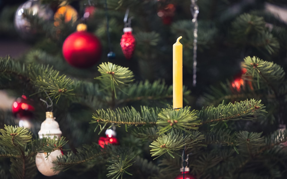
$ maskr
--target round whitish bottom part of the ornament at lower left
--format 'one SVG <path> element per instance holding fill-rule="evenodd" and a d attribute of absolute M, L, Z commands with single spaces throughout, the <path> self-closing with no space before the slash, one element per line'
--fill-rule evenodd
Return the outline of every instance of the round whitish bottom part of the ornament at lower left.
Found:
<path fill-rule="evenodd" d="M 48 158 L 46 158 L 46 152 L 38 152 L 36 155 L 35 162 L 39 172 L 41 172 L 41 174 L 45 176 L 57 175 L 60 171 L 54 171 L 52 169 L 55 166 L 55 164 L 53 164 L 53 161 L 57 159 L 57 156 L 61 155 L 62 152 L 60 150 L 55 150 L 49 154 Z"/>

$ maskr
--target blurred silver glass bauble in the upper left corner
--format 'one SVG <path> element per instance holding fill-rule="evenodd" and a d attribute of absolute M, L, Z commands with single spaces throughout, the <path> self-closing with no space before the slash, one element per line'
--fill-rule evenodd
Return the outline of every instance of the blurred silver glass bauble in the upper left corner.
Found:
<path fill-rule="evenodd" d="M 44 21 L 51 21 L 54 12 L 49 5 L 41 4 L 38 0 L 29 0 L 20 5 L 15 12 L 14 26 L 24 39 L 33 39 L 39 32 L 39 27 L 33 24 L 32 19 L 27 18 L 29 15 L 41 18 Z"/>

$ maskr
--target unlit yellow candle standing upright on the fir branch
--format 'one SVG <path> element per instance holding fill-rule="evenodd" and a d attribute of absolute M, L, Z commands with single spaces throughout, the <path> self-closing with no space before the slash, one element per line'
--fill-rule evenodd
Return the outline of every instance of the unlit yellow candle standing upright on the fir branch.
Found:
<path fill-rule="evenodd" d="M 182 100 L 182 44 L 177 38 L 176 43 L 172 46 L 172 80 L 173 80 L 173 108 L 183 107 Z"/>

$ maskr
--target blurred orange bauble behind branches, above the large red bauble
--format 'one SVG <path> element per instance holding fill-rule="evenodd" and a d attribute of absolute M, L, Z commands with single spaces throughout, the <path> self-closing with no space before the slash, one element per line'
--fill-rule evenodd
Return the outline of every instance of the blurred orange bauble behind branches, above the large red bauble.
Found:
<path fill-rule="evenodd" d="M 58 27 L 62 23 L 75 23 L 78 19 L 78 13 L 71 5 L 59 7 L 54 15 L 54 25 Z"/>

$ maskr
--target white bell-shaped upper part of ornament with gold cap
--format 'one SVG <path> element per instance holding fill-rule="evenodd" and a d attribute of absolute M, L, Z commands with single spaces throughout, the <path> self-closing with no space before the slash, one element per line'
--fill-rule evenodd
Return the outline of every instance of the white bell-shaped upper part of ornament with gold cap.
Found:
<path fill-rule="evenodd" d="M 46 137 L 53 139 L 55 136 L 57 138 L 61 137 L 62 131 L 59 128 L 58 122 L 55 121 L 53 112 L 46 112 L 46 120 L 42 122 L 38 134 L 40 138 Z"/>

